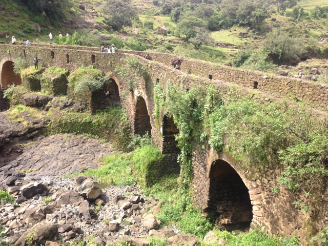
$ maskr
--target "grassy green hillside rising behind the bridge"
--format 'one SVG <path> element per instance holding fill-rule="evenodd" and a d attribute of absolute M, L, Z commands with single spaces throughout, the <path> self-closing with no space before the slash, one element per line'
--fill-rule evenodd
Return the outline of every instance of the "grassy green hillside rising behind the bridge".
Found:
<path fill-rule="evenodd" d="M 49 32 L 55 36 L 58 31 L 72 34 L 75 30 L 87 29 L 88 32 L 98 36 L 99 40 L 104 40 L 95 40 L 95 46 L 101 42 L 109 42 L 112 37 L 116 37 L 125 42 L 125 45 L 118 48 L 139 49 L 141 47 L 150 51 L 168 52 L 226 63 L 247 45 L 261 48 L 265 35 L 275 27 L 294 32 L 304 42 L 308 42 L 311 38 L 317 41 L 320 37 L 328 35 L 328 25 L 326 25 L 328 19 L 314 18 L 311 14 L 317 6 L 328 6 L 328 0 L 301 0 L 298 2 L 298 5 L 303 7 L 305 13 L 308 14 L 298 22 L 291 17 L 292 9 L 287 9 L 282 15 L 274 9 L 269 9 L 268 17 L 257 30 L 234 26 L 213 31 L 211 37 L 214 39 L 215 45 L 202 46 L 200 50 L 195 50 L 192 45 L 188 45 L 173 35 L 176 23 L 171 20 L 170 16 L 153 15 L 158 14 L 161 7 L 154 6 L 152 0 L 131 0 L 131 5 L 139 14 L 140 22 L 135 22 L 133 27 L 126 27 L 122 32 L 114 32 L 107 26 L 106 16 L 99 11 L 103 0 L 69 0 L 69 7 L 63 9 L 65 18 L 61 19 L 58 25 L 38 25 L 40 23 L 39 16 L 32 13 L 26 6 L 17 4 L 16 1 L 18 0 L 6 1 L 1 4 L 5 8 L 3 14 L 0 14 L 0 40 L 2 41 L 5 41 L 5 34 L 8 33 L 10 37 L 15 35 L 18 40 L 29 38 L 32 42 L 49 42 Z M 80 8 L 81 5 L 85 10 Z M 167 27 L 170 31 L 168 36 L 154 34 L 152 30 L 144 27 L 147 22 L 152 22 L 154 28 Z M 317 45 L 322 50 L 326 47 L 324 42 L 317 42 Z"/>

